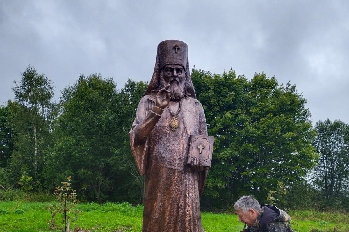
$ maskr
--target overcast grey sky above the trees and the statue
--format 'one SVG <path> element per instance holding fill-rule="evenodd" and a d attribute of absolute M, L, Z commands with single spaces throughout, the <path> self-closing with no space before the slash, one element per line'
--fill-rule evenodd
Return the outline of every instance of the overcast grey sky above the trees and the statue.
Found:
<path fill-rule="evenodd" d="M 159 42 L 182 40 L 197 69 L 291 82 L 313 124 L 349 123 L 348 0 L 0 0 L 0 104 L 28 65 L 55 100 L 80 73 L 149 81 Z"/>

